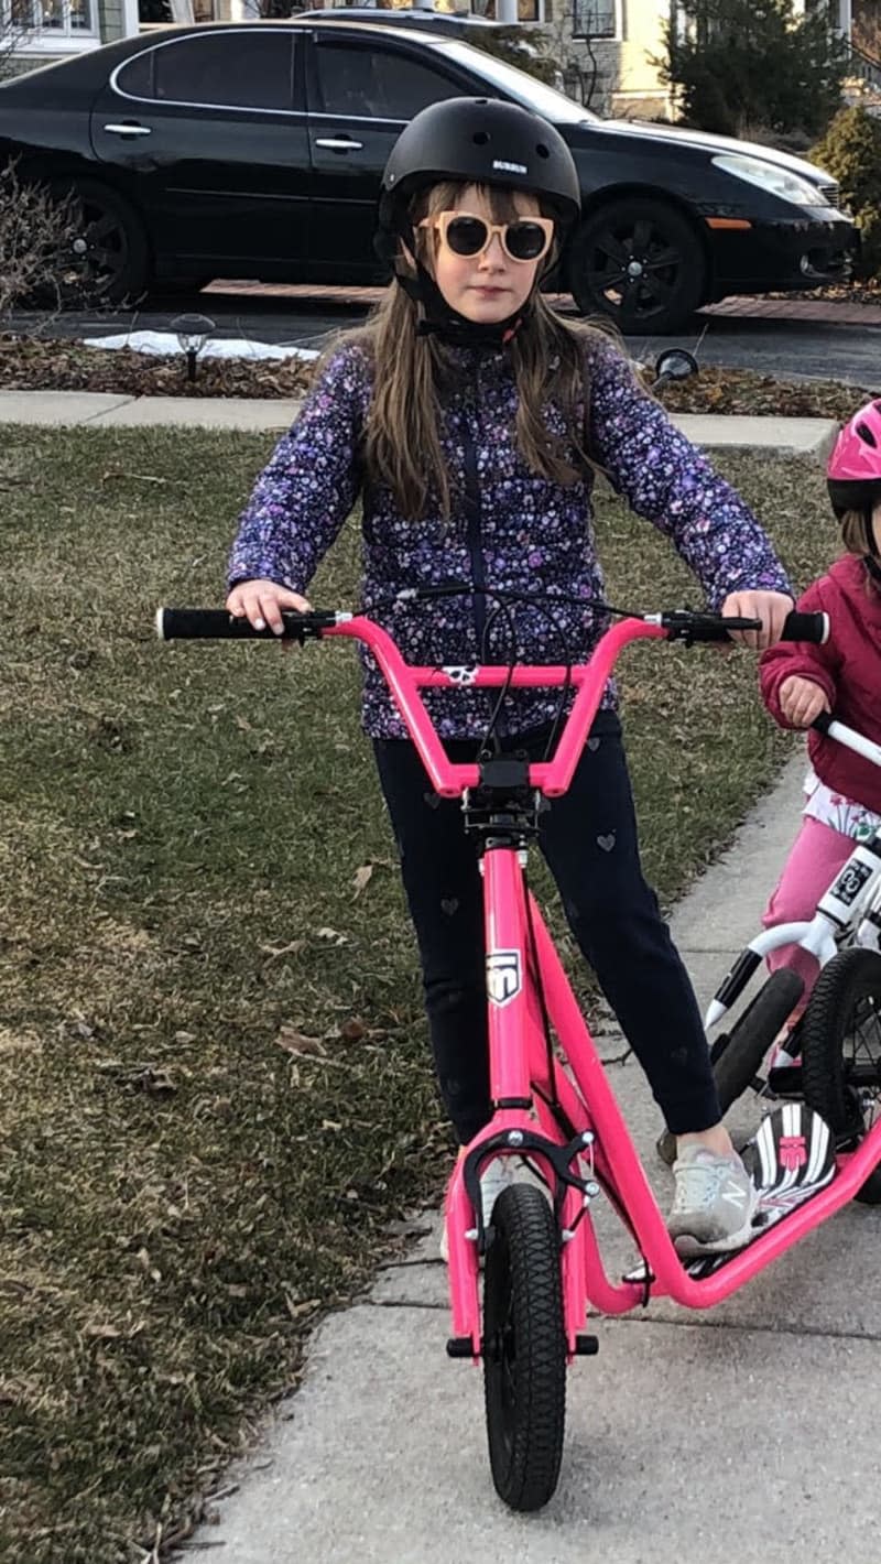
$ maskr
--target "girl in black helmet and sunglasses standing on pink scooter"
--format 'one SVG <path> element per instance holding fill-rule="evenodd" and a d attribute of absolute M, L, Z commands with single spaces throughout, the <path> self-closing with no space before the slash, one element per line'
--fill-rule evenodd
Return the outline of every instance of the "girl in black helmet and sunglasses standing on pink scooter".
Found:
<path fill-rule="evenodd" d="M 325 361 L 241 519 L 227 607 L 282 630 L 358 493 L 363 610 L 412 663 L 507 662 L 507 630 L 480 588 L 554 604 L 516 613 L 518 654 L 557 662 L 562 627 L 582 662 L 602 632 L 592 532 L 602 468 L 696 572 L 714 608 L 762 621 L 771 644 L 792 607 L 759 526 L 668 424 L 609 338 L 563 321 L 538 283 L 579 216 L 562 136 L 513 103 L 449 99 L 418 114 L 383 175 L 379 246 L 394 282 L 374 317 Z M 634 547 L 638 541 L 634 538 Z M 466 580 L 473 596 L 390 607 L 401 588 Z M 577 607 L 577 599 L 585 607 Z M 454 759 L 487 730 L 479 690 L 427 691 Z M 518 691 L 504 748 L 543 754 L 557 691 Z M 423 967 L 440 1089 L 462 1145 L 491 1114 L 480 881 L 458 804 L 426 788 L 376 666 L 363 721 L 391 815 Z M 685 1248 L 746 1242 L 753 1186 L 720 1125 L 689 978 L 642 877 L 615 715 L 602 708 L 540 845 L 574 938 L 679 1137 L 670 1231 Z M 638 982 L 634 973 L 638 971 Z M 490 1167 L 491 1211 L 509 1162 Z"/>

